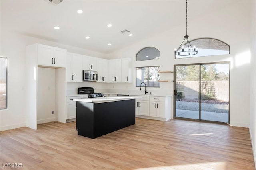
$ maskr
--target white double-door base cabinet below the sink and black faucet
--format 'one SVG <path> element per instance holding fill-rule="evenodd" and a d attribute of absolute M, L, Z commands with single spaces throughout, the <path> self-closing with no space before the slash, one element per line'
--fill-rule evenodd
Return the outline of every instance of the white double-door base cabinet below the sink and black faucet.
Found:
<path fill-rule="evenodd" d="M 135 100 L 135 114 L 149 116 L 149 97 L 140 96 Z"/>

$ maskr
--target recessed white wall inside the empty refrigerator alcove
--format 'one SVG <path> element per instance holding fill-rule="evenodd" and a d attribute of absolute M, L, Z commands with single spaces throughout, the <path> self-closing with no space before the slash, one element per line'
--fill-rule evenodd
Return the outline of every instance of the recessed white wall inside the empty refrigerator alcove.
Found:
<path fill-rule="evenodd" d="M 56 121 L 55 69 L 38 67 L 37 124 Z"/>

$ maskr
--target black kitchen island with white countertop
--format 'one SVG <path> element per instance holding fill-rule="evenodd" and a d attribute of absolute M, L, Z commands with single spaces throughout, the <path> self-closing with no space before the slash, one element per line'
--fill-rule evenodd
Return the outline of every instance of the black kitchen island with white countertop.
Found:
<path fill-rule="evenodd" d="M 100 97 L 76 101 L 78 135 L 96 138 L 135 124 L 136 97 Z"/>

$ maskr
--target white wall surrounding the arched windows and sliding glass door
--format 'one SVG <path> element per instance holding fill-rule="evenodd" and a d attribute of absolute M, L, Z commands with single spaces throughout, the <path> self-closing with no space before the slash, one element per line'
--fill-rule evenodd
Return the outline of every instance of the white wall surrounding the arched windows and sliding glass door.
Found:
<path fill-rule="evenodd" d="M 160 65 L 163 71 L 173 70 L 175 64 L 230 61 L 230 124 L 249 127 L 250 84 L 248 82 L 250 82 L 250 76 L 248 75 L 250 75 L 250 11 L 250 1 L 234 1 L 227 8 L 219 9 L 214 14 L 205 14 L 200 18 L 193 20 L 190 18 L 188 20 L 190 41 L 201 37 L 219 39 L 230 45 L 230 55 L 174 59 L 174 48 L 180 45 L 186 33 L 185 25 L 181 25 L 124 49 L 120 49 L 109 54 L 108 57 L 111 59 L 133 57 L 134 69 L 136 66 Z M 147 63 L 142 61 L 135 62 L 136 53 L 140 49 L 148 46 L 156 47 L 161 52 L 161 59 L 159 61 L 147 61 Z M 156 62 L 160 62 L 160 64 Z M 128 88 L 135 88 L 134 86 L 135 84 L 133 83 Z M 119 88 L 122 88 L 122 86 Z M 173 83 L 161 83 L 161 88 L 156 88 L 155 90 L 167 89 L 172 92 Z"/>

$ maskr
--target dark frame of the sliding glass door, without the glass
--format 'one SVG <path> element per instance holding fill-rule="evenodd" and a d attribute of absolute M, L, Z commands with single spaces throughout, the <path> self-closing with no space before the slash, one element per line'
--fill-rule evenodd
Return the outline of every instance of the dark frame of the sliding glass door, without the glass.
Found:
<path fill-rule="evenodd" d="M 210 121 L 210 120 L 202 120 L 201 119 L 201 65 L 209 65 L 209 64 L 228 64 L 228 122 L 219 122 L 219 121 Z M 173 95 L 173 118 L 174 119 L 182 119 L 182 120 L 190 120 L 190 121 L 206 121 L 206 122 L 213 122 L 213 123 L 229 124 L 230 123 L 230 61 L 174 65 L 173 66 L 173 70 L 174 70 L 173 94 L 174 94 L 174 90 L 176 90 L 176 66 L 191 66 L 191 65 L 199 65 L 199 119 L 176 117 L 176 95 Z"/>

